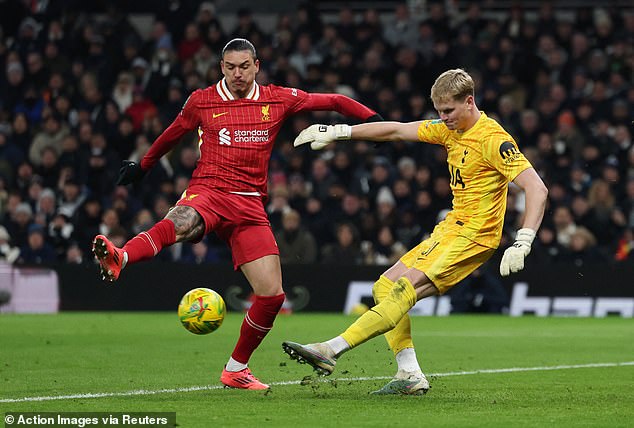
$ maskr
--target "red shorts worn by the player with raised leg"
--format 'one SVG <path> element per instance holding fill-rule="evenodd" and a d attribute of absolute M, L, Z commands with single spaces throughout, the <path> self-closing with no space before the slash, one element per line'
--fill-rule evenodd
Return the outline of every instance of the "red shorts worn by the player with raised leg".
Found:
<path fill-rule="evenodd" d="M 192 207 L 205 222 L 205 235 L 216 234 L 229 245 L 233 267 L 279 254 L 271 223 L 259 196 L 244 196 L 192 184 L 176 203 Z"/>

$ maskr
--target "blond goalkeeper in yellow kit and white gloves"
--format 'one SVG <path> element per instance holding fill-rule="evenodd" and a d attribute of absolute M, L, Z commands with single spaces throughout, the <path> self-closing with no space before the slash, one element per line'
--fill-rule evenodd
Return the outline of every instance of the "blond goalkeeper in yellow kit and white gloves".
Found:
<path fill-rule="evenodd" d="M 429 389 L 416 359 L 408 311 L 420 299 L 445 293 L 493 255 L 502 236 L 509 182 L 525 191 L 526 208 L 515 243 L 502 257 L 500 274 L 524 268 L 524 258 L 544 215 L 546 186 L 515 140 L 478 110 L 471 76 L 462 69 L 444 72 L 431 88 L 431 99 L 440 119 L 312 125 L 295 139 L 295 146 L 310 143 L 314 150 L 350 139 L 424 141 L 447 150 L 453 209 L 428 239 L 376 281 L 372 289 L 376 306 L 331 340 L 282 344 L 291 358 L 329 375 L 341 354 L 385 334 L 398 370 L 390 382 L 374 392 L 377 394 L 424 394 Z"/>

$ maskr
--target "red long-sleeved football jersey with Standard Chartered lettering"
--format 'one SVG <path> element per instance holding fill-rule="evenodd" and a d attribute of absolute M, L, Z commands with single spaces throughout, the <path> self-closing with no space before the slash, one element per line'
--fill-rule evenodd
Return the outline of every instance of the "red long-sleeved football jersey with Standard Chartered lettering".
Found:
<path fill-rule="evenodd" d="M 303 110 L 335 110 L 367 119 L 375 112 L 338 94 L 254 82 L 245 98 L 235 99 L 225 80 L 194 91 L 179 117 L 155 141 L 141 166 L 147 170 L 186 132 L 197 129 L 200 159 L 192 184 L 227 192 L 265 195 L 269 158 L 284 120 Z"/>

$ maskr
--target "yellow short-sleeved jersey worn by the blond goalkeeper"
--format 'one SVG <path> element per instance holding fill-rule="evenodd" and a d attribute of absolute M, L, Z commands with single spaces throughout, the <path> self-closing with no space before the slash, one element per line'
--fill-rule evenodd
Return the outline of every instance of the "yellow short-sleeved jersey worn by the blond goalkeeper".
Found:
<path fill-rule="evenodd" d="M 463 133 L 449 130 L 440 119 L 424 120 L 418 139 L 447 149 L 453 209 L 445 221 L 459 225 L 460 235 L 497 248 L 508 183 L 532 167 L 513 137 L 481 112 L 476 124 Z"/>

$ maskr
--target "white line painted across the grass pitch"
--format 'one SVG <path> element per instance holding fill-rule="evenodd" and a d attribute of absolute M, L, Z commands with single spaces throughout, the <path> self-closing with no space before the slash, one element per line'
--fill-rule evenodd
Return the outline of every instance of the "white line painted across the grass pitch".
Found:
<path fill-rule="evenodd" d="M 461 372 L 447 372 L 447 373 L 428 373 L 428 377 L 447 377 L 447 376 L 465 376 L 474 374 L 496 374 L 496 373 L 518 373 L 518 372 L 533 372 L 533 371 L 551 371 L 551 370 L 570 370 L 570 369 L 592 369 L 592 368 L 608 368 L 608 367 L 623 367 L 634 366 L 634 361 L 625 361 L 622 363 L 591 363 L 591 364 L 567 364 L 559 366 L 543 366 L 543 367 L 510 367 L 506 369 L 480 369 L 469 370 Z M 351 377 L 351 378 L 333 378 L 340 382 L 346 381 L 367 381 L 367 380 L 382 380 L 391 379 L 391 376 L 374 376 L 374 377 Z M 271 382 L 272 386 L 285 386 L 285 385 L 299 385 L 300 381 L 285 381 L 285 382 Z M 77 398 L 104 398 L 104 397 L 131 397 L 134 395 L 156 395 L 156 394 L 173 394 L 176 392 L 195 392 L 195 391 L 211 391 L 216 389 L 222 389 L 221 385 L 203 385 L 203 386 L 190 386 L 187 388 L 167 388 L 167 389 L 137 389 L 132 391 L 123 392 L 94 392 L 86 394 L 71 394 L 71 395 L 53 395 L 48 397 L 24 397 L 24 398 L 0 398 L 0 403 L 25 403 L 29 401 L 54 401 L 54 400 L 73 400 Z"/>

